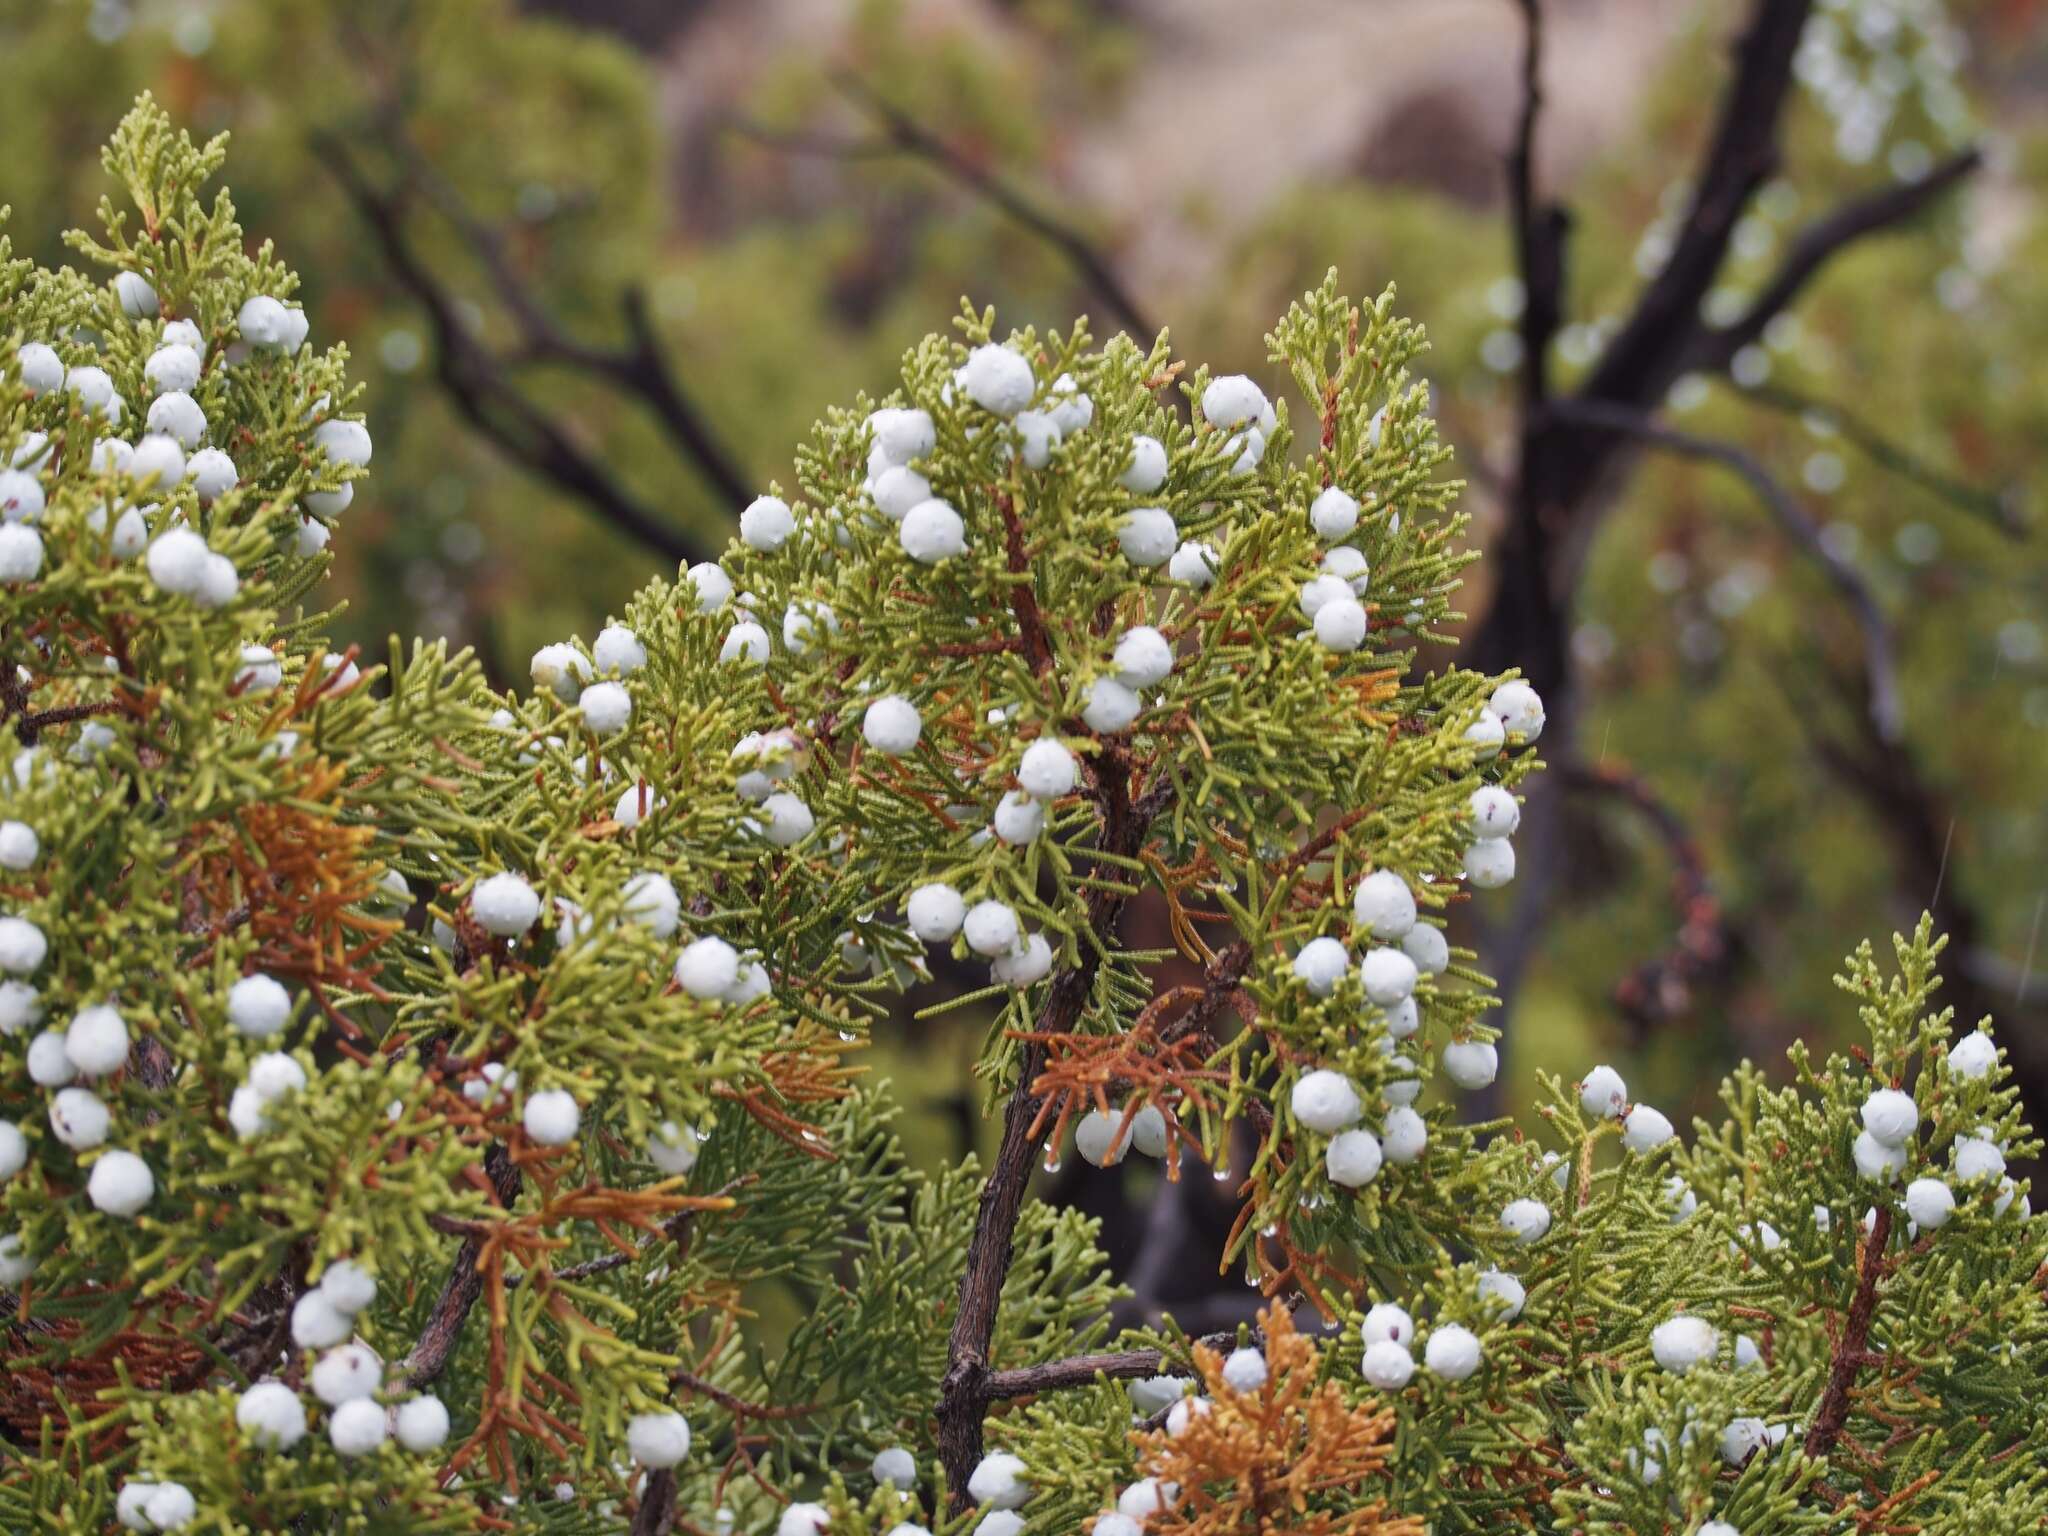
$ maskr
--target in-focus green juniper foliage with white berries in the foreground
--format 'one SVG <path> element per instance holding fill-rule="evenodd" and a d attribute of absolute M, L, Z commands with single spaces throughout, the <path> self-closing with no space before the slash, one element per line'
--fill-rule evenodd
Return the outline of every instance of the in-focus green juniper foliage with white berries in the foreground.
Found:
<path fill-rule="evenodd" d="M 2048 1524 L 2038 1143 L 1925 926 L 1690 1143 L 1608 1067 L 1460 1122 L 1542 702 L 1415 668 L 1391 297 L 1274 328 L 1300 424 L 965 311 L 500 696 L 305 608 L 371 440 L 219 160 L 143 102 L 106 279 L 0 248 L 8 1530 Z M 987 1174 L 858 1067 L 926 979 Z M 1108 1348 L 1069 1145 L 1237 1178 L 1262 1327 Z"/>

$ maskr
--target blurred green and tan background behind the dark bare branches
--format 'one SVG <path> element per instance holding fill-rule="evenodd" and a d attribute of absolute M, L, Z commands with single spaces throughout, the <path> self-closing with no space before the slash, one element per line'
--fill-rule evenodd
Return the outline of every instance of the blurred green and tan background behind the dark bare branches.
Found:
<path fill-rule="evenodd" d="M 1671 240 L 1745 10 L 1548 6 L 1538 166 L 1575 209 L 1567 381 Z M 2048 563 L 2030 516 L 2048 426 L 2044 27 L 2038 0 L 1821 6 L 1784 164 L 1710 311 L 1733 313 L 1837 199 L 1966 141 L 1987 164 L 1833 262 L 1739 360 L 1747 387 L 1681 381 L 1669 401 L 1673 424 L 1769 467 L 1896 623 L 1909 750 L 1952 821 L 1937 879 L 1978 918 L 1970 965 L 2021 1030 L 2040 1030 L 2048 893 Z M 1264 326 L 1335 264 L 1352 293 L 1399 285 L 1430 328 L 1487 543 L 1511 469 L 1520 35 L 1509 0 L 0 0 L 0 203 L 25 252 L 61 260 L 137 90 L 231 131 L 246 227 L 276 240 L 315 342 L 346 340 L 369 385 L 377 467 L 336 539 L 344 633 L 453 635 L 524 682 L 532 649 L 594 635 L 737 514 L 645 399 L 563 362 L 629 346 L 633 293 L 729 479 L 766 487 L 813 416 L 887 391 L 963 293 L 1016 324 L 1120 328 L 1061 238 L 1171 322 L 1182 354 L 1253 371 Z M 666 555 L 477 432 L 348 168 L 412 186 L 395 217 L 465 346 L 520 346 L 500 276 L 569 338 L 516 360 L 518 399 L 659 522 Z M 1972 494 L 1929 489 L 1804 399 Z M 1835 1030 L 1837 956 L 1933 893 L 1815 756 L 1817 666 L 1853 631 L 1812 561 L 1712 467 L 1645 459 L 1618 498 L 1575 596 L 1577 739 L 1544 750 L 1653 786 L 1737 942 L 1655 1022 L 1630 1020 L 1614 987 L 1671 942 L 1671 848 L 1628 807 L 1573 809 L 1507 1018 L 1509 1098 L 1538 1069 L 1612 1059 L 1686 1112 L 1735 1057 L 1778 1063 L 1794 1034 Z M 1481 565 L 1475 614 L 1489 582 Z M 930 1151 L 967 1122 L 973 1049 L 938 1040 L 889 1053 Z"/>

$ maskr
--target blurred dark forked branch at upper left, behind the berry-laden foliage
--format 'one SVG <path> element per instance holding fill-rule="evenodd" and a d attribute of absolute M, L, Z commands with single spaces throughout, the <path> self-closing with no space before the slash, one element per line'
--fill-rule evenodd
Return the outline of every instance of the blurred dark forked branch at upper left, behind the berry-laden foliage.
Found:
<path fill-rule="evenodd" d="M 483 240 L 477 250 L 479 262 L 494 272 L 506 309 L 524 332 L 522 352 L 500 356 L 475 336 L 408 233 L 408 205 L 422 186 L 418 172 L 408 174 L 391 190 L 379 190 L 338 135 L 324 135 L 319 145 L 328 168 L 369 225 L 393 279 L 426 311 L 434 332 L 436 373 L 463 418 L 514 463 L 569 492 L 621 532 L 668 559 L 705 559 L 707 551 L 694 539 L 629 492 L 512 377 L 516 362 L 541 358 L 592 373 L 647 401 L 717 494 L 725 502 L 745 500 L 745 479 L 670 377 L 639 295 L 629 295 L 625 301 L 627 330 L 633 338 L 627 348 L 602 350 L 575 342 L 545 317 L 492 240 L 469 225 L 471 244 Z"/>

